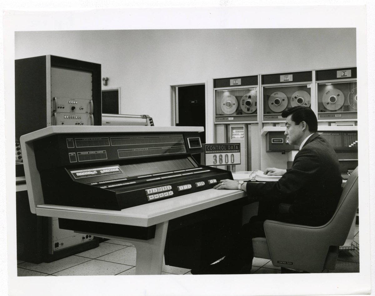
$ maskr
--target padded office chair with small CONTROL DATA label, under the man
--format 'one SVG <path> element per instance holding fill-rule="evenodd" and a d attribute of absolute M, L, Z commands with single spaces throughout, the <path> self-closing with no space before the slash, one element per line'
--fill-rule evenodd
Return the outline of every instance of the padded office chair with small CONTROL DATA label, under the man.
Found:
<path fill-rule="evenodd" d="M 358 167 L 348 178 L 335 213 L 325 225 L 312 227 L 272 220 L 264 222 L 266 237 L 252 239 L 254 257 L 274 266 L 305 272 L 335 269 L 358 208 Z"/>

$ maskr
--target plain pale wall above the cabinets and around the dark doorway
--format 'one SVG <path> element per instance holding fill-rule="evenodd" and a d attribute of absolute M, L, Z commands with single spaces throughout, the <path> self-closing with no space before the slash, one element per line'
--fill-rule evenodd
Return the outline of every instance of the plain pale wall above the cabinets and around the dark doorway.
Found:
<path fill-rule="evenodd" d="M 213 78 L 356 65 L 355 28 L 31 31 L 15 33 L 15 58 L 38 55 L 102 65 L 105 88 L 121 88 L 121 113 L 170 125 L 170 85 L 207 84 L 213 139 Z"/>

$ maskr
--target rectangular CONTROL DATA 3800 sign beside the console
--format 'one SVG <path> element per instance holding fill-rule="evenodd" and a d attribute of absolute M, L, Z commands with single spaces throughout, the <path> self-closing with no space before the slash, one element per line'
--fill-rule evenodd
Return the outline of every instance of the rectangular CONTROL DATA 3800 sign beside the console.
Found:
<path fill-rule="evenodd" d="M 205 144 L 205 165 L 241 164 L 240 143 Z"/>

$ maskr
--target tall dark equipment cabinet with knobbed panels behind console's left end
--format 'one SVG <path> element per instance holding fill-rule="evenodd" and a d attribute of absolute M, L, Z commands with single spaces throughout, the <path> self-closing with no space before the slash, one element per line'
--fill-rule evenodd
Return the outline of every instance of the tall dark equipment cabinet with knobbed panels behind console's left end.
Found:
<path fill-rule="evenodd" d="M 21 135 L 47 126 L 101 123 L 100 64 L 53 55 L 15 60 L 16 145 Z M 18 158 L 16 168 L 23 168 Z M 92 236 L 60 229 L 55 218 L 28 217 L 35 215 L 24 211 L 27 204 L 26 192 L 17 192 L 19 259 L 50 262 L 98 246 Z"/>

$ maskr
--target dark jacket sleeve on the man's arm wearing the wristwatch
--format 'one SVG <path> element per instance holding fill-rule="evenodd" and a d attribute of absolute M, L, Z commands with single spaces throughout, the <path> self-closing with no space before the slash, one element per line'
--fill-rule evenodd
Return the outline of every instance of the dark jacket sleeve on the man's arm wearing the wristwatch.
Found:
<path fill-rule="evenodd" d="M 279 200 L 288 201 L 306 184 L 314 182 L 321 167 L 320 158 L 314 148 L 305 147 L 297 153 L 291 169 L 275 182 L 248 182 L 246 191 L 251 201 Z"/>

